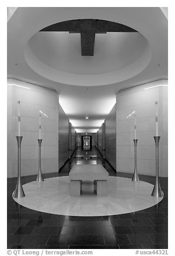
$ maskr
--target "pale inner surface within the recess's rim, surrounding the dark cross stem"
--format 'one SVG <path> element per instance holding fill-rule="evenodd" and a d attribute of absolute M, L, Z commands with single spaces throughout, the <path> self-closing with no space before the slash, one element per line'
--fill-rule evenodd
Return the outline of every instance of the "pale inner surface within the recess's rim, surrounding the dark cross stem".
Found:
<path fill-rule="evenodd" d="M 80 34 L 38 32 L 28 44 L 33 54 L 51 68 L 76 75 L 97 75 L 135 62 L 148 41 L 140 33 L 96 34 L 94 56 L 82 56 Z"/>

